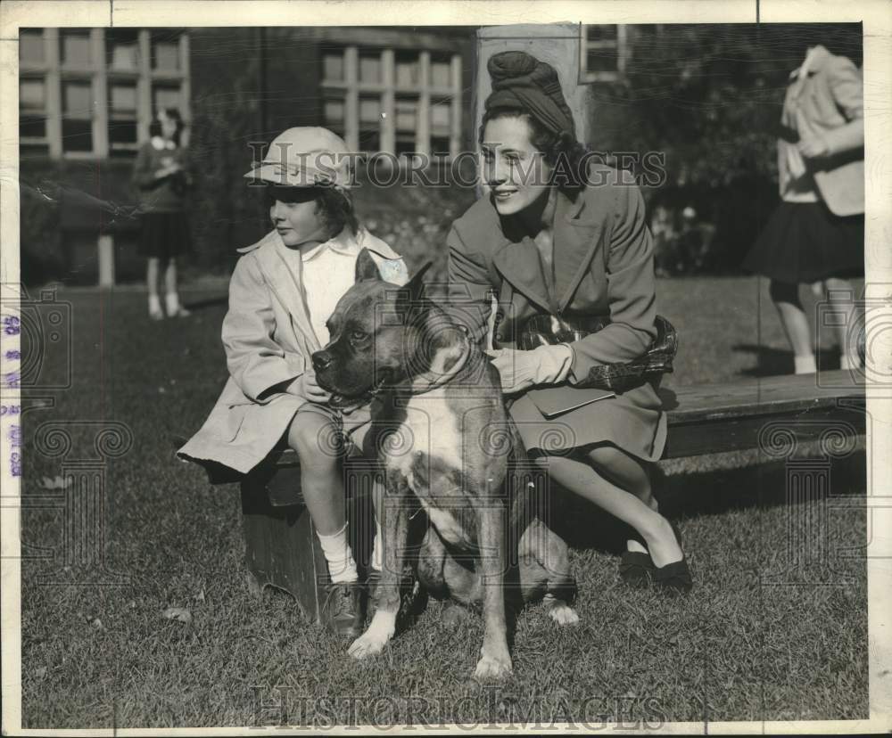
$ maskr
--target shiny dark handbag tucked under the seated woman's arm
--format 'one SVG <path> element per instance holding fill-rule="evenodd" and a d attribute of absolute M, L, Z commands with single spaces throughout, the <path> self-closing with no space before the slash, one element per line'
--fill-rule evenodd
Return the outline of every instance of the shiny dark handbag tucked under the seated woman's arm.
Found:
<path fill-rule="evenodd" d="M 602 316 L 533 316 L 521 329 L 517 348 L 530 351 L 539 346 L 572 343 L 598 332 L 609 323 L 609 318 Z M 575 382 L 574 387 L 624 392 L 646 381 L 658 382 L 662 374 L 672 373 L 673 359 L 678 351 L 678 333 L 663 316 L 657 316 L 654 325 L 657 338 L 643 355 L 628 362 L 592 366 L 589 375 Z"/>

